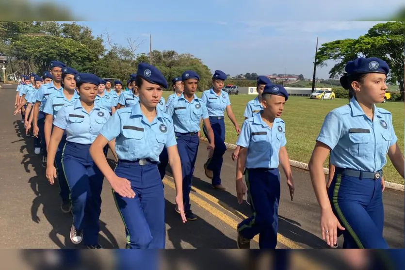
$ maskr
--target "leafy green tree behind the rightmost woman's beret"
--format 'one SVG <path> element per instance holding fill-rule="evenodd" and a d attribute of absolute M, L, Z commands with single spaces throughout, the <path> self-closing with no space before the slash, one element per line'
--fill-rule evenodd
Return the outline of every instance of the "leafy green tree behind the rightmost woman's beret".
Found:
<path fill-rule="evenodd" d="M 330 79 L 338 79 L 348 61 L 357 57 L 378 57 L 390 67 L 388 82 L 398 83 L 404 100 L 404 33 L 405 22 L 387 22 L 374 25 L 358 39 L 343 39 L 322 44 L 317 53 L 317 65 L 327 60 L 338 62 L 329 71 Z"/>

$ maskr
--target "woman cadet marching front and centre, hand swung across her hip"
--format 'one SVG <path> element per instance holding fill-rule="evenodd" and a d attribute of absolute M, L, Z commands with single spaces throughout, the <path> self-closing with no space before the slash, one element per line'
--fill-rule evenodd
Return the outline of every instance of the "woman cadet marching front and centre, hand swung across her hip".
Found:
<path fill-rule="evenodd" d="M 173 122 L 156 107 L 167 82 L 154 66 L 138 65 L 136 88 L 139 102 L 117 110 L 104 125 L 90 154 L 113 188 L 113 196 L 127 235 L 127 248 L 165 247 L 164 192 L 157 163 L 167 148 L 176 185 L 176 203 L 186 222 L 181 189 L 181 163 Z M 116 138 L 118 164 L 113 171 L 102 155 Z"/>

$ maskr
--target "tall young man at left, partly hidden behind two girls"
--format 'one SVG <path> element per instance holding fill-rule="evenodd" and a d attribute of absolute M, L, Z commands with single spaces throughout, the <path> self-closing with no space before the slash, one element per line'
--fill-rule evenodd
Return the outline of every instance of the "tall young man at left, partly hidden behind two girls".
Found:
<path fill-rule="evenodd" d="M 36 101 L 33 109 L 33 133 L 35 137 L 39 137 L 41 140 L 41 150 L 42 150 L 42 166 L 47 166 L 47 145 L 45 142 L 45 113 L 44 107 L 48 100 L 50 94 L 62 90 L 62 69 L 66 65 L 60 61 L 52 61 L 49 64 L 50 74 L 52 75 L 52 81 L 48 84 L 44 84 L 36 92 Z M 39 133 L 39 136 L 38 136 Z"/>

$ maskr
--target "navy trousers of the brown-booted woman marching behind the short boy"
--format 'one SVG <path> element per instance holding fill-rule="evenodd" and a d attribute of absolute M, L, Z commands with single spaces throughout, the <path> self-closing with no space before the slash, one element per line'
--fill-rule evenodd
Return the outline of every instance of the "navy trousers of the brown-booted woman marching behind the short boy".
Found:
<path fill-rule="evenodd" d="M 214 132 L 215 148 L 207 168 L 212 171 L 213 178 L 211 180 L 211 183 L 213 186 L 216 186 L 221 184 L 221 168 L 222 162 L 224 162 L 224 159 L 222 157 L 224 156 L 225 152 L 227 152 L 227 146 L 224 143 L 225 121 L 224 118 L 218 119 L 217 117 L 210 117 L 210 124 Z M 204 125 L 203 131 L 205 137 L 208 139 L 207 128 Z"/>

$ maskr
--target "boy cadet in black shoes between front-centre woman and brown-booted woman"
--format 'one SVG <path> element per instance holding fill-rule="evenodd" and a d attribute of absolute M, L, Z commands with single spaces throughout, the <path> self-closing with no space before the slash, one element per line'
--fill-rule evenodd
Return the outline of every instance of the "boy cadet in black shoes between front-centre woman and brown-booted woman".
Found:
<path fill-rule="evenodd" d="M 196 220 L 197 217 L 191 210 L 190 191 L 193 180 L 194 164 L 197 159 L 200 139 L 201 118 L 207 128 L 210 144 L 207 149 L 209 156 L 214 151 L 214 133 L 211 128 L 208 110 L 204 102 L 195 95 L 200 77 L 192 70 L 184 71 L 181 76 L 184 82 L 184 92 L 174 97 L 167 107 L 166 113 L 173 118 L 173 126 L 177 139 L 178 154 L 181 160 L 181 172 L 183 175 L 183 205 L 186 218 Z M 176 206 L 176 211 L 180 213 Z"/>

